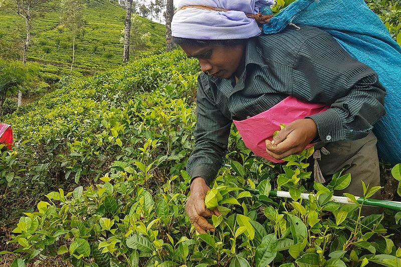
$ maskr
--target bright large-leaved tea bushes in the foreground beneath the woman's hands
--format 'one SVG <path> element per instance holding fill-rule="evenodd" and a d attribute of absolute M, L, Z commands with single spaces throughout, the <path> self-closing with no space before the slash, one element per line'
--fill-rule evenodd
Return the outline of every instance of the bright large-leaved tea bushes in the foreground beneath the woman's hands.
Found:
<path fill-rule="evenodd" d="M 287 181 L 301 185 L 307 178 L 301 167 L 307 155 L 287 163 Z M 382 215 L 363 218 L 361 205 L 329 201 L 333 190 L 349 184 L 349 175 L 333 177 L 327 187 L 314 183 L 316 194 L 306 201 L 271 199 L 267 164 L 253 156 L 243 160 L 222 168 L 211 190 L 222 196 L 222 215 L 211 221 L 213 234 L 189 228 L 184 203 L 190 177 L 184 171 L 163 186 L 142 187 L 148 168 L 125 161 L 115 162 L 101 183 L 85 190 L 46 195 L 36 212 L 20 218 L 12 242 L 21 248 L 14 253 L 27 259 L 38 253 L 64 255 L 74 266 L 401 264 L 401 249 L 387 235 Z M 257 195 L 247 191 L 255 188 Z M 366 189 L 364 195 L 376 190 Z"/>

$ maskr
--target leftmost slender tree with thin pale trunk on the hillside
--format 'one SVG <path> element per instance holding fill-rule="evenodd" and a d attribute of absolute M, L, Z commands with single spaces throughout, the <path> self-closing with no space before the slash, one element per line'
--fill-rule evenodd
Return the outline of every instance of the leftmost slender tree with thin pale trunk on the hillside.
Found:
<path fill-rule="evenodd" d="M 39 12 L 43 11 L 43 6 L 47 2 L 49 2 L 49 0 L 12 0 L 12 10 L 25 20 L 25 30 L 27 33 L 27 37 L 25 39 L 24 55 L 22 58 L 22 62 L 24 65 L 27 63 L 28 49 L 31 42 L 32 21 Z M 21 106 L 21 104 L 22 92 L 19 91 L 17 106 Z"/>

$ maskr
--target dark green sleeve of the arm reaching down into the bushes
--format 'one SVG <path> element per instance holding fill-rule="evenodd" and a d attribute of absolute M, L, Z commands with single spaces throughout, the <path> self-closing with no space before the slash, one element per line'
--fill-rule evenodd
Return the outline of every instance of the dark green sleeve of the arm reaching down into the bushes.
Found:
<path fill-rule="evenodd" d="M 195 148 L 189 156 L 186 169 L 192 179 L 202 177 L 210 185 L 223 166 L 232 120 L 216 106 L 204 75 L 198 77 Z"/>

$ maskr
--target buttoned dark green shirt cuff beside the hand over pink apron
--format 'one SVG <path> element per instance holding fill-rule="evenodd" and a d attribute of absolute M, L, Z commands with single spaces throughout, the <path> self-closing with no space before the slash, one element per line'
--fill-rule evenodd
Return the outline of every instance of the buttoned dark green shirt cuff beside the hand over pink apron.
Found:
<path fill-rule="evenodd" d="M 315 121 L 319 138 L 324 143 L 344 140 L 341 118 L 333 108 L 308 116 L 307 118 Z"/>

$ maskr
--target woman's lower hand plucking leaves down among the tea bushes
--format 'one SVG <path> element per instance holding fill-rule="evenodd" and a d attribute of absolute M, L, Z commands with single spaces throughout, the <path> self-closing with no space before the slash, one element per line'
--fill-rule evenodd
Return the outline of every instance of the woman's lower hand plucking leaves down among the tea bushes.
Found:
<path fill-rule="evenodd" d="M 209 189 L 209 186 L 202 177 L 196 177 L 191 183 L 191 193 L 186 200 L 185 212 L 196 231 L 199 233 L 215 231 L 215 227 L 213 227 L 213 225 L 210 224 L 206 218 L 210 218 L 212 215 L 221 215 L 217 208 L 212 211 L 207 209 L 205 206 L 205 197 Z"/>

